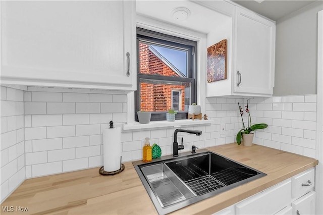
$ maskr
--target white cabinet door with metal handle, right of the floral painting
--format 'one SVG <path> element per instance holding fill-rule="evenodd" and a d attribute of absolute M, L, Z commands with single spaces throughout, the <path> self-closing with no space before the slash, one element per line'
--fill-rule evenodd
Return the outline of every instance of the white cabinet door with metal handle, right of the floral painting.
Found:
<path fill-rule="evenodd" d="M 273 94 L 275 23 L 236 8 L 234 92 Z"/>

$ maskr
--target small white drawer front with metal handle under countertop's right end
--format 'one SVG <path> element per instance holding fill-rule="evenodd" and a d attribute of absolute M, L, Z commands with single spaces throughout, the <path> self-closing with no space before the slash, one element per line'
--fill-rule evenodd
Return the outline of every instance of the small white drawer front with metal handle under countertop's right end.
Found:
<path fill-rule="evenodd" d="M 312 168 L 292 177 L 292 198 L 295 199 L 301 197 L 311 191 L 313 187 L 314 169 Z"/>

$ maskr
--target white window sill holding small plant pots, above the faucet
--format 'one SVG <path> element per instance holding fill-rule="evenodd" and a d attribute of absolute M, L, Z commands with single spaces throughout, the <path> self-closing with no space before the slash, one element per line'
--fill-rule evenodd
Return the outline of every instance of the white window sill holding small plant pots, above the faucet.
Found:
<path fill-rule="evenodd" d="M 147 124 L 140 124 L 138 122 L 132 124 L 124 124 L 122 129 L 128 130 L 140 130 L 140 129 L 155 129 L 155 128 L 177 128 L 181 126 L 197 126 L 197 125 L 211 125 L 213 120 L 175 120 L 175 122 L 168 121 L 152 121 Z"/>

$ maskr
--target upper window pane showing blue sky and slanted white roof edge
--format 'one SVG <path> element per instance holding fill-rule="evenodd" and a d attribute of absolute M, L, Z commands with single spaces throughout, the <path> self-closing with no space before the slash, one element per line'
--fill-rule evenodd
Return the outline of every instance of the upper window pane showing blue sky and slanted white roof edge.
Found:
<path fill-rule="evenodd" d="M 140 73 L 187 77 L 187 50 L 139 41 Z"/>

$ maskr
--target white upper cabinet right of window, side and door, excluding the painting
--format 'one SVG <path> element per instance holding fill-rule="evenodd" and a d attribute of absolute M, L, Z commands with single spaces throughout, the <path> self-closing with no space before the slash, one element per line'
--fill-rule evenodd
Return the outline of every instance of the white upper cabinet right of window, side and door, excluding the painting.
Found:
<path fill-rule="evenodd" d="M 275 22 L 235 7 L 227 23 L 207 35 L 207 47 L 227 39 L 227 79 L 206 83 L 206 96 L 272 96 Z"/>

